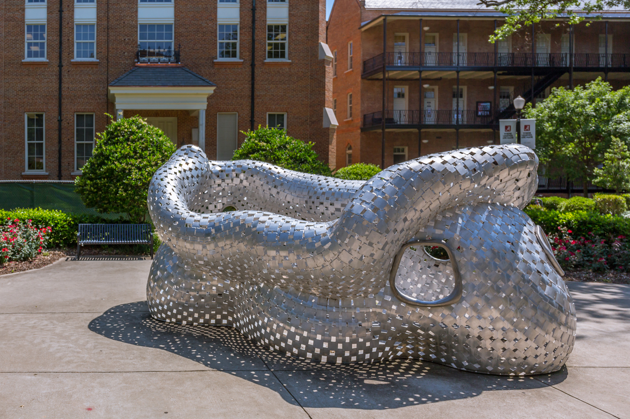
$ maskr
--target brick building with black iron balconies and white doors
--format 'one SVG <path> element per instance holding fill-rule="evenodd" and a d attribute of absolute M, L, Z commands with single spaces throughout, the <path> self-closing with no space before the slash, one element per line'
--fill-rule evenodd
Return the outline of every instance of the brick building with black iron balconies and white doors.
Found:
<path fill-rule="evenodd" d="M 515 96 L 536 103 L 551 87 L 599 76 L 615 88 L 628 83 L 626 11 L 589 26 L 544 21 L 492 44 L 505 15 L 477 3 L 335 0 L 327 40 L 337 167 L 387 167 L 497 143 L 498 120 L 512 118 Z"/>

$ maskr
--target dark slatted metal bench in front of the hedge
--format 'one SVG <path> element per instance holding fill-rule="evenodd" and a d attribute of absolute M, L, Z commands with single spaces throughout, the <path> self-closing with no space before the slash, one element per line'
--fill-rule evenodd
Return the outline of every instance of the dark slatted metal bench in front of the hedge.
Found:
<path fill-rule="evenodd" d="M 77 260 L 86 244 L 148 244 L 153 259 L 153 231 L 149 224 L 79 224 Z"/>

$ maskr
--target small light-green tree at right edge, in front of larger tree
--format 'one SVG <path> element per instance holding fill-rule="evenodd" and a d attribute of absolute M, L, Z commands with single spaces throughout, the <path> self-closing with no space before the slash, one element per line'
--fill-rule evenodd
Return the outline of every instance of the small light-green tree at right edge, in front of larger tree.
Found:
<path fill-rule="evenodd" d="M 593 184 L 617 193 L 630 190 L 630 152 L 626 143 L 612 137 L 610 149 L 604 153 L 604 167 L 593 170 L 597 178 Z"/>

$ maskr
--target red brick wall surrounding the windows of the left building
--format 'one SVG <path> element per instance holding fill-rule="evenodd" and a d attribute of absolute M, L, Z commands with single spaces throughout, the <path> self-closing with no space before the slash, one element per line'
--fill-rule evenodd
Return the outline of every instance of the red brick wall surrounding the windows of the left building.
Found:
<path fill-rule="evenodd" d="M 208 98 L 206 152 L 216 157 L 218 112 L 238 112 L 240 131 L 250 126 L 251 0 L 240 5 L 240 58 L 243 64 L 217 67 L 216 3 L 175 0 L 175 45 L 181 44 L 182 64 L 217 84 Z M 97 3 L 95 64 L 76 64 L 74 58 L 74 2 L 64 1 L 62 67 L 62 177 L 74 170 L 74 113 L 94 112 L 96 131 L 115 115 L 107 86 L 134 68 L 137 48 L 137 0 L 103 0 Z M 109 8 L 109 13 L 108 13 Z M 325 42 L 325 0 L 292 0 L 289 4 L 288 65 L 265 65 L 266 3 L 256 8 L 255 127 L 266 125 L 266 113 L 287 112 L 289 135 L 315 143 L 320 159 L 328 162 L 334 129 L 323 128 L 323 108 L 332 107 L 331 67 L 319 60 L 318 42 Z M 59 60 L 59 0 L 48 0 L 47 59 L 45 64 L 23 64 L 24 0 L 4 1 L 0 17 L 3 34 L 0 64 L 0 179 L 21 179 L 25 170 L 24 113 L 45 113 L 45 169 L 57 179 L 57 77 Z M 109 16 L 109 25 L 107 25 Z M 109 33 L 109 35 L 108 35 Z M 107 45 L 109 48 L 107 48 Z M 125 111 L 125 116 L 177 116 L 178 142 L 189 143 L 197 117 L 187 111 Z M 334 159 L 333 159 L 334 160 Z"/>

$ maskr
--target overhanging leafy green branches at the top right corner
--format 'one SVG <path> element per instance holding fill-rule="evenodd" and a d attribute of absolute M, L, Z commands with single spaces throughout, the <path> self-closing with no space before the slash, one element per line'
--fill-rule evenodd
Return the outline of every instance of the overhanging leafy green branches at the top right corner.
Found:
<path fill-rule="evenodd" d="M 585 18 L 600 19 L 600 12 L 605 9 L 630 9 L 628 0 L 479 0 L 478 4 L 507 14 L 505 23 L 490 36 L 491 42 L 541 20 L 560 16 L 566 23 L 576 25 Z"/>

